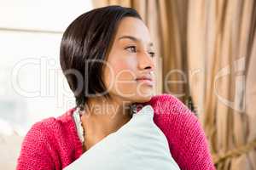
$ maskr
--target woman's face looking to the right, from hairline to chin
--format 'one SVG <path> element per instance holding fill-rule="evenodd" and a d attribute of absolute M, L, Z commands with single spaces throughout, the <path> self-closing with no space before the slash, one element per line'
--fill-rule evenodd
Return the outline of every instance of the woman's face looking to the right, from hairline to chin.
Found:
<path fill-rule="evenodd" d="M 105 66 L 103 79 L 110 95 L 132 103 L 151 99 L 155 57 L 142 20 L 125 17 L 120 21 Z"/>

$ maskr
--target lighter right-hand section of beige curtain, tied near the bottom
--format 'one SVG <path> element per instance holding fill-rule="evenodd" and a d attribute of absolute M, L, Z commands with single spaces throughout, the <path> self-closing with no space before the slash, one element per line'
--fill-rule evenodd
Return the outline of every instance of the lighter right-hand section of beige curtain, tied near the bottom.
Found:
<path fill-rule="evenodd" d="M 218 169 L 256 169 L 255 5 L 189 3 L 190 89 Z"/>

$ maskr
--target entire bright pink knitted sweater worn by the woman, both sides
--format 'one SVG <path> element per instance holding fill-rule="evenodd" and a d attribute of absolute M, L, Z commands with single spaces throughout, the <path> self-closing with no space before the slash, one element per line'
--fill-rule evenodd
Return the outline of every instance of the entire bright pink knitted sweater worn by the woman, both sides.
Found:
<path fill-rule="evenodd" d="M 172 157 L 182 170 L 215 169 L 201 124 L 181 101 L 162 94 L 143 105 L 148 104 L 154 108 L 154 122 L 166 135 Z M 74 110 L 32 126 L 22 143 L 17 170 L 59 170 L 83 154 Z"/>

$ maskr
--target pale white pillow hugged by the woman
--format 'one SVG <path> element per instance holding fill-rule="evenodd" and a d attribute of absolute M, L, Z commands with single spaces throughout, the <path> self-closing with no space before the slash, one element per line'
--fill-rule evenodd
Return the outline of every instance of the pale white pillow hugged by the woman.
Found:
<path fill-rule="evenodd" d="M 166 136 L 146 105 L 115 133 L 85 151 L 65 170 L 177 170 Z"/>

